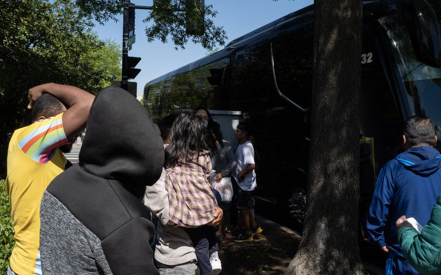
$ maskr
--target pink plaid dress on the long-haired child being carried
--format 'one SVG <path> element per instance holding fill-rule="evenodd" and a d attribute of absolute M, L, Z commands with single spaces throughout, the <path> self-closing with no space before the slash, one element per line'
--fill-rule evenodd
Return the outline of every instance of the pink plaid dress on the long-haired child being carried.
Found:
<path fill-rule="evenodd" d="M 169 193 L 169 219 L 176 225 L 194 228 L 214 219 L 216 198 L 208 177 L 211 159 L 208 151 L 195 154 L 193 161 L 182 166 L 169 167 L 165 189 Z"/>

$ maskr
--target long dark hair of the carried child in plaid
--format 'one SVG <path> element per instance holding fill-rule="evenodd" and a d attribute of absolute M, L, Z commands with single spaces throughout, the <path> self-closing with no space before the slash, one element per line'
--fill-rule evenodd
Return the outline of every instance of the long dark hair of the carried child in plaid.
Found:
<path fill-rule="evenodd" d="M 165 149 L 165 165 L 172 167 L 188 163 L 195 154 L 209 148 L 207 121 L 195 114 L 182 112 L 170 130 L 170 144 Z"/>

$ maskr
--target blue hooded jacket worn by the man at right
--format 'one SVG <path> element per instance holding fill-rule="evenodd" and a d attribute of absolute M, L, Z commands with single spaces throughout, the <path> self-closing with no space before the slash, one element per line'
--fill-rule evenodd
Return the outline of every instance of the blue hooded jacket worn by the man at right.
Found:
<path fill-rule="evenodd" d="M 422 226 L 427 223 L 441 193 L 440 168 L 440 153 L 429 146 L 410 148 L 384 165 L 367 217 L 372 243 L 379 247 L 386 245 L 403 258 L 395 221 L 406 215 L 414 217 Z"/>

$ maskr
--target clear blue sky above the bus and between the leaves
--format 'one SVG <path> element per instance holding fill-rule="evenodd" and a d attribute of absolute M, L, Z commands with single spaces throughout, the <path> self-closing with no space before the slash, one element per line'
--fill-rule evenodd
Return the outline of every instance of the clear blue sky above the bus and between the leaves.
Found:
<path fill-rule="evenodd" d="M 152 0 L 132 0 L 137 5 L 151 5 Z M 277 18 L 297 11 L 300 8 L 311 5 L 313 0 L 205 0 L 206 5 L 213 5 L 218 15 L 213 19 L 217 26 L 223 26 L 231 40 L 253 31 Z M 166 74 L 174 69 L 184 66 L 192 61 L 205 56 L 207 52 L 200 45 L 187 44 L 185 50 L 174 50 L 173 43 L 163 44 L 160 41 L 147 42 L 144 29 L 146 25 L 142 22 L 148 15 L 147 10 L 136 10 L 135 33 L 136 43 L 129 56 L 141 57 L 137 68 L 141 73 L 132 81 L 138 83 L 138 94 L 142 94 L 145 83 Z M 122 16 L 119 22 L 107 22 L 104 26 L 96 25 L 94 31 L 100 39 L 111 39 L 122 44 L 123 25 Z M 222 46 L 219 46 L 222 48 Z"/>

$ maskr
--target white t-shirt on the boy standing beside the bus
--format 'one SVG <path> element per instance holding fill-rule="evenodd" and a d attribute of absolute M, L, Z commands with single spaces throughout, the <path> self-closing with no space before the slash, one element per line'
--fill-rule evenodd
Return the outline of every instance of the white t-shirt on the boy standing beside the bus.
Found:
<path fill-rule="evenodd" d="M 240 144 L 236 149 L 236 169 L 234 170 L 233 176 L 236 183 L 245 191 L 252 191 L 256 188 L 256 173 L 254 169 L 245 175 L 244 180 L 239 183 L 237 179 L 237 174 L 245 169 L 249 164 L 255 164 L 254 162 L 254 148 L 252 147 L 251 141 L 246 141 L 244 144 Z"/>

